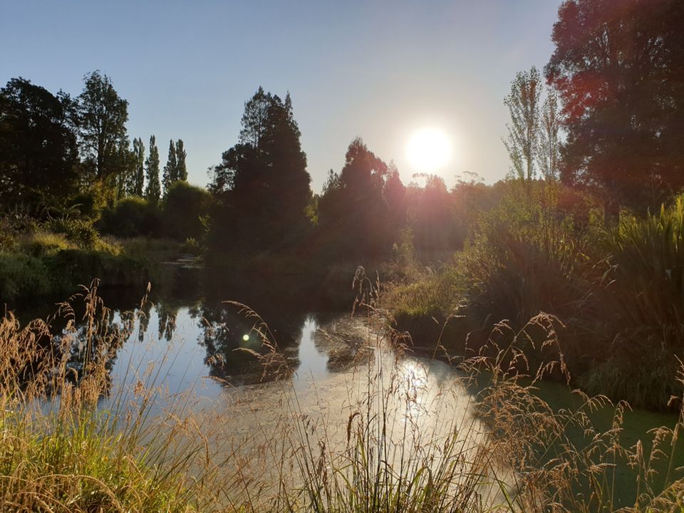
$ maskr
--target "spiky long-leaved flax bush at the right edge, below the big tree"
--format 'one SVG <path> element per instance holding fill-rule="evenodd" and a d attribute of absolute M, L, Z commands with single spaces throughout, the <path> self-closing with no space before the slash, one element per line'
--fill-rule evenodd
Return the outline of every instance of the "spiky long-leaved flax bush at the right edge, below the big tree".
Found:
<path fill-rule="evenodd" d="M 672 355 L 684 343 L 684 197 L 644 219 L 623 217 L 608 252 L 597 293 L 606 326 L 587 389 L 606 387 L 601 390 L 635 405 L 666 408 L 679 392 Z"/>

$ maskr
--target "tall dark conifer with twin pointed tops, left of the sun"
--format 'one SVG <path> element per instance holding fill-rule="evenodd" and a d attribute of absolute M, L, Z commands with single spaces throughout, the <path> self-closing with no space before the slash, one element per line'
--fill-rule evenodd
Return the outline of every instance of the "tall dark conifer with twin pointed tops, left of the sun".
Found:
<path fill-rule="evenodd" d="M 218 244 L 227 242 L 230 226 L 232 242 L 273 247 L 306 222 L 310 177 L 299 138 L 289 95 L 282 101 L 259 88 L 245 103 L 239 142 L 212 169 L 209 190 L 223 205 L 224 220 L 213 233 Z"/>

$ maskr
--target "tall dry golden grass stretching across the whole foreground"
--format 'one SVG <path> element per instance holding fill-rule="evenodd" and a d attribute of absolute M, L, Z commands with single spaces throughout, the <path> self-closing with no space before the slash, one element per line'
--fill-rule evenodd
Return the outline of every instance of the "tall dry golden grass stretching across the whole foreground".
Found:
<path fill-rule="evenodd" d="M 298 388 L 267 324 L 241 306 L 264 343 L 255 353 L 264 375 L 277 378 L 263 388 L 274 395 L 266 411 L 247 405 L 259 423 L 245 439 L 221 430 L 230 410 L 197 412 L 187 395 L 169 403 L 144 362 L 130 364 L 133 388 L 112 388 L 108 366 L 136 319 L 113 322 L 96 286 L 61 305 L 59 333 L 6 314 L 1 509 L 604 512 L 625 503 L 614 487 L 622 465 L 635 468 L 633 511 L 683 507 L 673 458 L 681 417 L 655 433 L 648 452 L 641 441 L 621 443 L 626 405 L 576 392 L 579 408 L 556 411 L 537 395 L 545 375 L 568 379 L 558 318 L 498 323 L 458 372 L 447 372 L 410 356 L 410 338 L 388 328 L 376 303 L 376 284 L 357 277 L 366 346 L 344 375 L 343 397 L 318 395 L 315 383 Z M 613 408 L 608 430 L 592 424 L 596 408 Z"/>

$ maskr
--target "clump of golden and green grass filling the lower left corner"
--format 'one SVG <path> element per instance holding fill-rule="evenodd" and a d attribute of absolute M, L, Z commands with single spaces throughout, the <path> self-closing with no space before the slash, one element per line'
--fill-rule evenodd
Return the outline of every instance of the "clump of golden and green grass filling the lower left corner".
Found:
<path fill-rule="evenodd" d="M 173 443 L 173 437 L 195 435 L 174 415 L 167 420 L 179 422 L 165 434 L 156 421 L 149 424 L 153 384 L 146 380 L 149 390 L 122 392 L 110 412 L 98 410 L 110 388 L 107 366 L 131 324 L 110 326 L 110 312 L 96 291 L 86 289 L 60 305 L 56 316 L 68 321 L 61 332 L 38 319 L 26 326 L 12 314 L 0 319 L 1 508 L 190 511 L 199 506 L 193 492 L 202 487 L 187 480 L 185 471 L 202 460 L 195 456 L 203 454 L 203 439 Z M 86 312 L 85 333 L 76 328 L 76 308 Z M 84 355 L 76 379 L 72 355 Z M 33 407 L 48 399 L 55 401 L 54 410 Z M 115 415 L 119 408 L 128 408 L 128 415 Z"/>

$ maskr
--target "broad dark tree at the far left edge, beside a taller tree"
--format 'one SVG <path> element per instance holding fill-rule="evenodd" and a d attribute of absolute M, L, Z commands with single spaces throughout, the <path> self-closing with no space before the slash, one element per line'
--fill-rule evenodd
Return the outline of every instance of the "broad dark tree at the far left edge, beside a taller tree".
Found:
<path fill-rule="evenodd" d="M 78 192 L 76 105 L 24 78 L 0 90 L 0 207 L 63 206 Z M 36 212 L 38 213 L 38 212 Z"/>

